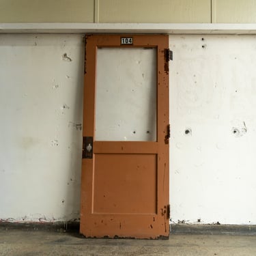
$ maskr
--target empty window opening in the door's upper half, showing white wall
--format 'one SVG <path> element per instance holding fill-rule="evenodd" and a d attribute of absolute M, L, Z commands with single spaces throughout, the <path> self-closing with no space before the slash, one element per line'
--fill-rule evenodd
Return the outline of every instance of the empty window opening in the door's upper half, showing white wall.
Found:
<path fill-rule="evenodd" d="M 156 141 L 156 48 L 98 48 L 96 141 Z"/>

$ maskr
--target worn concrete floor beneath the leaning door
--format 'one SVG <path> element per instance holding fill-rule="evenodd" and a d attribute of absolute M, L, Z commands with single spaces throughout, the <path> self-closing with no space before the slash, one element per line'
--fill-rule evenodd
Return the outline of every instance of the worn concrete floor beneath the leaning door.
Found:
<path fill-rule="evenodd" d="M 86 239 L 77 233 L 0 230 L 0 255 L 256 255 L 256 236 L 174 235 L 169 240 Z"/>

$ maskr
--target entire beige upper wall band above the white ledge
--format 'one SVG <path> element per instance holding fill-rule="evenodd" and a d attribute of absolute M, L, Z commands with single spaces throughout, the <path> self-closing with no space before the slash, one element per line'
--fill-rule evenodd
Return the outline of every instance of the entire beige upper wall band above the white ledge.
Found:
<path fill-rule="evenodd" d="M 255 23 L 254 0 L 0 0 L 0 23 Z"/>

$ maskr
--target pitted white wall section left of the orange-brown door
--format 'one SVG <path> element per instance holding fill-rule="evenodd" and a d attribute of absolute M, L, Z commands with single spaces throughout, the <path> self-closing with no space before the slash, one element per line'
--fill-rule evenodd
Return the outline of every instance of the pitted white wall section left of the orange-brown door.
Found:
<path fill-rule="evenodd" d="M 0 56 L 0 220 L 79 218 L 83 36 L 1 34 Z"/>

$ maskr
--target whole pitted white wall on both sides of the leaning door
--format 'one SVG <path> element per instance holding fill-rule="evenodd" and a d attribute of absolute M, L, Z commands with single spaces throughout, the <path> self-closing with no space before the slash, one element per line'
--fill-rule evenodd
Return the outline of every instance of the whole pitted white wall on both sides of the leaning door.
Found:
<path fill-rule="evenodd" d="M 256 224 L 255 38 L 170 35 L 173 223 Z M 0 35 L 0 220 L 79 218 L 83 55 L 82 35 Z"/>

